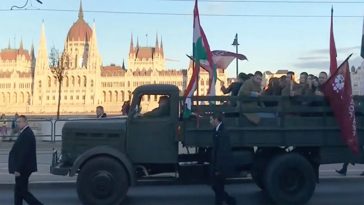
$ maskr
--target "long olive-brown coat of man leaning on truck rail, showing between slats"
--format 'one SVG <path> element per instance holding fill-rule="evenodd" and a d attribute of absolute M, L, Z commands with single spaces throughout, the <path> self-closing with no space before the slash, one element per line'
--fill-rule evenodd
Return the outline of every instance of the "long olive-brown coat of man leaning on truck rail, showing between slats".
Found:
<path fill-rule="evenodd" d="M 261 91 L 260 85 L 256 85 L 252 79 L 249 79 L 241 86 L 238 96 L 250 97 L 252 92 L 260 93 Z M 258 102 L 241 102 L 240 106 L 242 108 L 256 108 L 258 107 Z M 258 117 L 257 113 L 243 113 L 243 115 L 252 123 L 259 124 L 260 117 Z"/>

